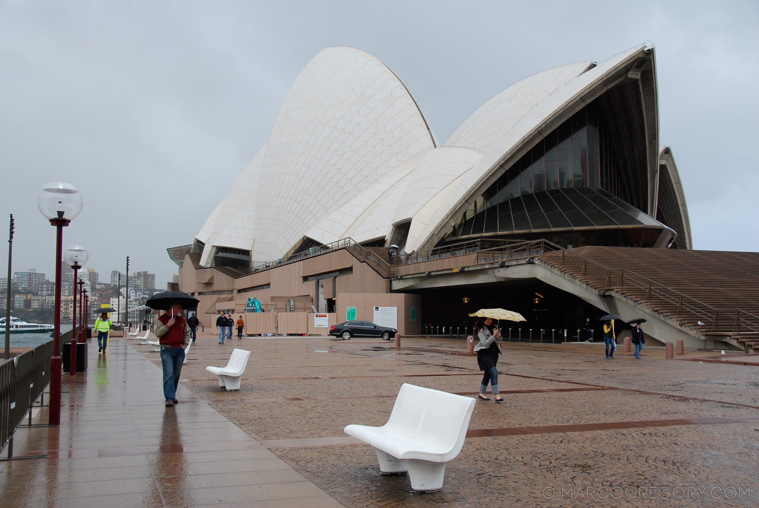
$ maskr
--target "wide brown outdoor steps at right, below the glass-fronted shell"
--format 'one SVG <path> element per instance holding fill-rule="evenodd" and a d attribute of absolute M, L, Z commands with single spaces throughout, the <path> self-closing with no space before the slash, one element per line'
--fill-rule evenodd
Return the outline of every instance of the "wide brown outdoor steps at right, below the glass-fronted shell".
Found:
<path fill-rule="evenodd" d="M 618 247 L 581 247 L 571 252 L 608 269 L 625 268 L 720 311 L 740 309 L 759 316 L 759 253 Z M 597 289 L 614 289 L 695 330 L 740 332 L 733 338 L 746 345 L 754 346 L 753 342 L 759 345 L 757 328 L 740 330 L 735 327 L 735 312 L 720 312 L 714 328 L 711 313 L 708 325 L 701 327 L 698 321 L 704 322 L 707 315 L 704 311 L 688 308 L 687 301 L 681 307 L 673 294 L 663 297 L 655 290 L 648 292 L 645 286 L 629 283 L 632 281 L 625 284 L 624 279 L 619 280 L 619 271 L 613 273 L 609 281 L 608 272 L 589 266 L 590 263 L 586 264 L 568 252 L 565 252 L 563 263 L 561 251 L 544 254 L 539 259 Z M 743 315 L 742 319 L 743 323 L 748 320 L 759 326 L 759 321 L 754 323 L 756 319 L 753 317 Z"/>

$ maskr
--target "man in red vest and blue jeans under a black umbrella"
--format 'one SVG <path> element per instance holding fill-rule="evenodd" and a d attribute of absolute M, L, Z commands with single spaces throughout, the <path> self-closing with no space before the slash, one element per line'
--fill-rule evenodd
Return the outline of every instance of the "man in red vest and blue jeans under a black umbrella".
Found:
<path fill-rule="evenodd" d="M 161 367 L 163 369 L 163 396 L 166 407 L 177 402 L 177 387 L 184 362 L 184 348 L 190 343 L 190 327 L 181 315 L 182 304 L 172 304 L 166 314 L 159 316 L 155 334 L 161 345 Z"/>

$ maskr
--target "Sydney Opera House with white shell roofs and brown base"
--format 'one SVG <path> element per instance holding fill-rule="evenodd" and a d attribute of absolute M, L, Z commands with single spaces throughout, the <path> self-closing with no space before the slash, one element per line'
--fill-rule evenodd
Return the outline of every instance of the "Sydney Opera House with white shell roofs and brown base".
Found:
<path fill-rule="evenodd" d="M 407 334 L 461 333 L 465 300 L 521 310 L 534 333 L 614 310 L 549 276 L 518 275 L 547 270 L 520 249 L 692 249 L 675 158 L 660 143 L 653 48 L 525 77 L 444 141 L 388 65 L 323 49 L 228 196 L 168 253 L 208 325 L 248 298 L 281 323 L 294 319 L 282 313 L 340 322 L 395 308 Z M 315 332 L 313 317 L 303 323 L 279 333 Z"/>

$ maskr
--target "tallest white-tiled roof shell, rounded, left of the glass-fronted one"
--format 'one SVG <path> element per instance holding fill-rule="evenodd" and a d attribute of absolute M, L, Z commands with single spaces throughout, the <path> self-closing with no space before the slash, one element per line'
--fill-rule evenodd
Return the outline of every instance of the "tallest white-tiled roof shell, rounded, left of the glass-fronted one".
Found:
<path fill-rule="evenodd" d="M 324 216 L 434 146 L 401 80 L 359 49 L 323 49 L 279 110 L 263 159 L 254 260 L 282 257 Z"/>

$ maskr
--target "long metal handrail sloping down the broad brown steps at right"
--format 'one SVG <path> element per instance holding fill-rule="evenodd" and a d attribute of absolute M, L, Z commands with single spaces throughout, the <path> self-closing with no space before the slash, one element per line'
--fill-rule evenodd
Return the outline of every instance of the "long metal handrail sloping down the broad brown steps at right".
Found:
<path fill-rule="evenodd" d="M 552 242 L 546 241 L 546 244 L 552 244 Z M 556 244 L 553 244 L 553 245 L 555 245 L 556 247 L 559 247 Z M 648 277 L 642 276 L 638 273 L 628 270 L 627 268 L 604 267 L 602 264 L 597 263 L 594 260 L 588 259 L 587 257 L 584 257 L 581 254 L 578 254 L 573 251 L 569 251 L 564 248 L 561 248 L 561 249 L 562 249 L 562 257 L 561 257 L 561 260 L 559 260 L 559 266 L 566 264 L 567 257 L 572 256 L 576 258 L 578 262 L 582 263 L 580 277 L 583 277 L 583 276 L 594 277 L 594 278 L 600 277 L 601 279 L 603 279 L 604 276 L 606 277 L 605 283 L 603 286 L 589 283 L 590 286 L 596 287 L 597 289 L 613 289 L 614 291 L 619 292 L 621 295 L 625 295 L 625 292 L 623 291 L 625 285 L 632 286 L 635 289 L 638 289 L 640 291 L 645 291 L 646 292 L 645 298 L 648 300 L 648 302 L 641 301 L 640 298 L 634 298 L 634 297 L 627 297 L 627 298 L 631 298 L 635 301 L 640 301 L 641 303 L 645 304 L 648 308 L 651 308 L 654 311 L 656 311 L 656 309 L 654 309 L 653 304 L 650 303 L 650 298 L 659 298 L 660 300 L 663 300 L 666 304 L 670 304 L 671 306 L 676 306 L 676 309 L 677 309 L 676 312 L 674 313 L 663 311 L 663 310 L 657 311 L 659 314 L 664 314 L 666 316 L 673 317 L 674 319 L 679 320 L 684 323 L 685 323 L 684 318 L 688 316 L 688 314 L 691 314 L 692 316 L 691 323 L 693 320 L 704 322 L 704 325 L 696 325 L 700 327 L 698 329 L 692 325 L 685 323 L 685 325 L 688 328 L 691 328 L 691 330 L 697 330 L 701 333 L 718 333 L 720 330 L 720 325 L 719 325 L 720 313 L 730 313 L 730 314 L 735 315 L 735 322 L 732 324 L 733 333 L 740 333 L 740 328 L 742 326 L 745 328 L 748 328 L 748 330 L 751 330 L 751 332 L 759 333 L 759 317 L 754 316 L 754 314 L 750 314 L 748 312 L 742 311 L 741 309 L 737 309 L 737 308 L 735 309 L 714 308 L 709 304 L 705 304 L 703 301 L 698 301 L 695 298 L 691 298 L 688 295 L 684 295 L 681 292 L 676 291 L 675 289 L 664 286 L 660 282 L 656 282 L 653 279 L 649 279 Z M 746 319 L 745 317 L 742 317 L 743 315 L 748 317 L 748 319 Z M 707 326 L 708 326 L 708 330 L 704 330 L 704 328 L 706 328 Z"/>

